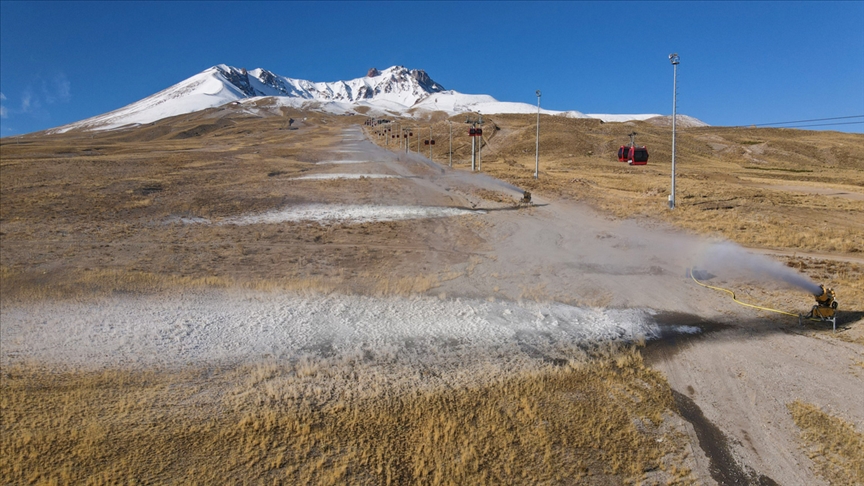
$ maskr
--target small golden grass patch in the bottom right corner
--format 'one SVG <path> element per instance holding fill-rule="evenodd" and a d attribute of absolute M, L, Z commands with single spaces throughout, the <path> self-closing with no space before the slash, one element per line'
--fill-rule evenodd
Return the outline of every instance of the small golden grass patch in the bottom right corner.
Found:
<path fill-rule="evenodd" d="M 820 476 L 830 484 L 864 484 L 864 434 L 815 405 L 795 401 L 787 408 Z"/>

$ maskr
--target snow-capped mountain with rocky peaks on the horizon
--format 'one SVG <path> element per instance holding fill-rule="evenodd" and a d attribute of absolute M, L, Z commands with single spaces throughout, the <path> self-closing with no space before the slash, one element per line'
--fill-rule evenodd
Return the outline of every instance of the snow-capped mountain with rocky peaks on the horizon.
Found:
<path fill-rule="evenodd" d="M 271 98 L 275 107 L 320 110 L 345 114 L 414 116 L 432 111 L 451 115 L 536 113 L 528 103 L 501 102 L 489 95 L 470 95 L 445 90 L 419 69 L 393 66 L 370 69 L 366 76 L 350 81 L 316 83 L 276 75 L 265 69 L 247 71 L 220 64 L 152 96 L 102 115 L 55 128 L 107 130 L 151 123 L 163 118 L 219 107 L 231 102 L 242 106 Z M 364 107 L 362 110 L 358 108 Z M 644 120 L 660 115 L 584 115 L 578 111 L 541 110 L 541 113 L 571 118 L 611 117 L 608 121 Z"/>

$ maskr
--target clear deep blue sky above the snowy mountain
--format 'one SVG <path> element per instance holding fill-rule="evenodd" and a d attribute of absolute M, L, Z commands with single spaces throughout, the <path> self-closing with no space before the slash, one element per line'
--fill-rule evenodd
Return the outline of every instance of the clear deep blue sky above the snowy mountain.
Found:
<path fill-rule="evenodd" d="M 312 81 L 398 64 L 502 101 L 536 103 L 540 89 L 553 110 L 670 114 L 671 52 L 678 112 L 712 125 L 864 115 L 862 25 L 861 1 L 2 1 L 0 134 L 105 113 L 221 63 Z"/>

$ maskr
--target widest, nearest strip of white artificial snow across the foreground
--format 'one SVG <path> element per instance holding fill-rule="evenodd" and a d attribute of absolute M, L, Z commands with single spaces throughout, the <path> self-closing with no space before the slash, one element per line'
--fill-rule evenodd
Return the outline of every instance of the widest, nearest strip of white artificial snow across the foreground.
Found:
<path fill-rule="evenodd" d="M 3 309 L 2 365 L 138 367 L 431 347 L 579 345 L 658 333 L 649 311 L 435 297 L 253 291 L 112 297 Z M 404 349 L 403 349 L 404 350 Z M 434 354 L 434 353 L 432 353 Z"/>

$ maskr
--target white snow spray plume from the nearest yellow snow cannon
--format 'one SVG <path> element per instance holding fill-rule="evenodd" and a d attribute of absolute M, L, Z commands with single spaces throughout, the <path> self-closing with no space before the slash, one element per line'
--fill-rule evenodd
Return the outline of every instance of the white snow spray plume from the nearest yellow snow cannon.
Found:
<path fill-rule="evenodd" d="M 780 280 L 810 292 L 822 293 L 819 284 L 791 268 L 762 255 L 754 255 L 734 243 L 711 245 L 702 255 L 702 266 L 717 274 L 738 273 Z"/>

